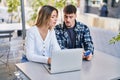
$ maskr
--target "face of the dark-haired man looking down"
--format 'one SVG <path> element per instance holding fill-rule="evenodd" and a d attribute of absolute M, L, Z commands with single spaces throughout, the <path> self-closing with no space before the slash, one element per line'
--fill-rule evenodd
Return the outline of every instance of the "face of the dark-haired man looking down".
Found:
<path fill-rule="evenodd" d="M 67 27 L 73 27 L 75 25 L 76 14 L 64 13 L 64 22 Z"/>

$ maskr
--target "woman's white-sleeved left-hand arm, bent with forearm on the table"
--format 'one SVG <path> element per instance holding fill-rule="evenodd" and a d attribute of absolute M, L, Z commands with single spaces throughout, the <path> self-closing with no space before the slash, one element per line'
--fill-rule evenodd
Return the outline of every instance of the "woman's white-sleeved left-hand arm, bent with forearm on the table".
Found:
<path fill-rule="evenodd" d="M 35 33 L 35 31 L 34 31 Z M 32 31 L 27 31 L 26 35 L 26 56 L 29 61 L 34 61 L 34 62 L 41 62 L 41 63 L 48 63 L 48 57 L 41 55 L 38 55 L 36 53 L 35 49 L 35 44 L 37 42 L 35 41 L 35 38 L 37 36 L 34 35 Z"/>

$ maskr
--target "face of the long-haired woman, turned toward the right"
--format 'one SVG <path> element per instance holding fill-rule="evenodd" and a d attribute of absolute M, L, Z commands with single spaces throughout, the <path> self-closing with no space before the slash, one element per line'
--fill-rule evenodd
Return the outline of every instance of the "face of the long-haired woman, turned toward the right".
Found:
<path fill-rule="evenodd" d="M 54 10 L 51 14 L 51 17 L 50 17 L 50 22 L 49 22 L 49 27 L 50 28 L 53 28 L 55 27 L 56 23 L 57 23 L 57 18 L 58 18 L 58 14 L 57 12 Z"/>

